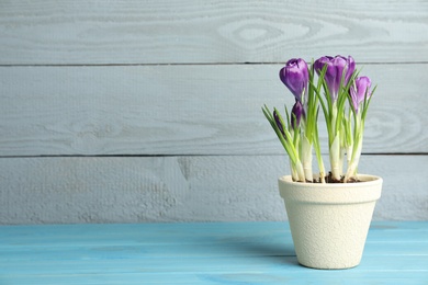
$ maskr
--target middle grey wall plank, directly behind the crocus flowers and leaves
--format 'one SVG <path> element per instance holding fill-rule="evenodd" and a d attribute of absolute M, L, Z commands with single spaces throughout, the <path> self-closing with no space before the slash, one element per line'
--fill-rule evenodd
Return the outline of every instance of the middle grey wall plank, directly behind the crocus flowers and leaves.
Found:
<path fill-rule="evenodd" d="M 0 67 L 0 156 L 284 153 L 261 113 L 292 104 L 280 68 Z M 428 152 L 425 69 L 364 67 L 379 89 L 363 151 Z"/>

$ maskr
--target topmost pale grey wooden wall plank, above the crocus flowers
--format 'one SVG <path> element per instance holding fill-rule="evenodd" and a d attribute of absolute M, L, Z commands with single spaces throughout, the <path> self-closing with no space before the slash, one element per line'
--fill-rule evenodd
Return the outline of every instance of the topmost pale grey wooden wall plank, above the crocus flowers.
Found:
<path fill-rule="evenodd" d="M 1 65 L 428 60 L 428 3 L 2 1 Z M 417 56 L 415 56 L 417 55 Z"/>

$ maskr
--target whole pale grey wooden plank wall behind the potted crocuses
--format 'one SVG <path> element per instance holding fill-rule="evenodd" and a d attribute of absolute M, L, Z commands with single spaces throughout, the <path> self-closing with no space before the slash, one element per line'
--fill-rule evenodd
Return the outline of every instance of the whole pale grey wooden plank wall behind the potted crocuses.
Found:
<path fill-rule="evenodd" d="M 0 0 L 0 224 L 286 219 L 291 57 L 379 84 L 375 219 L 428 219 L 428 2 Z"/>

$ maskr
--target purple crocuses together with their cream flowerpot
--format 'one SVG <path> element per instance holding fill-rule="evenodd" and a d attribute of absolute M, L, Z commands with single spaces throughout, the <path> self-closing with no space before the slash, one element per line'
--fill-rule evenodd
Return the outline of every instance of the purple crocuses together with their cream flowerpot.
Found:
<path fill-rule="evenodd" d="M 291 175 L 279 179 L 279 190 L 297 261 L 315 269 L 357 266 L 382 190 L 381 178 L 357 173 L 375 88 L 359 75 L 351 56 L 324 56 L 311 66 L 291 59 L 280 79 L 295 98 L 291 112 L 285 106 L 283 117 L 267 105 L 262 112 L 290 158 Z M 318 136 L 319 113 L 328 133 L 328 173 Z"/>

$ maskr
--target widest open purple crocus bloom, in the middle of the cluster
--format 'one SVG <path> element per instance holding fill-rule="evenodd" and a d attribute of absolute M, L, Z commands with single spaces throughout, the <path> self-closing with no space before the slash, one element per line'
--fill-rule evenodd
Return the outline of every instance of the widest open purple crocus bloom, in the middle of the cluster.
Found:
<path fill-rule="evenodd" d="M 348 56 L 348 58 L 342 56 L 323 56 L 314 62 L 314 68 L 318 76 L 325 65 L 327 65 L 325 80 L 327 82 L 328 91 L 330 92 L 331 101 L 336 102 L 340 90 L 341 78 L 345 73 L 345 81 L 342 84 L 347 86 L 356 70 L 356 61 L 353 61 L 351 56 Z"/>

